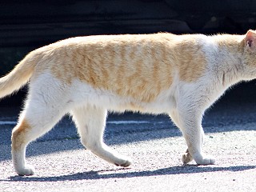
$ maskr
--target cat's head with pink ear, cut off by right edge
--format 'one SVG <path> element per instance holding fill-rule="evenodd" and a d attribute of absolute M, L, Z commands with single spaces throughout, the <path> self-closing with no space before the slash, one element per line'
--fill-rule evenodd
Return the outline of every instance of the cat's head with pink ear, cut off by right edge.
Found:
<path fill-rule="evenodd" d="M 246 72 L 250 75 L 248 78 L 256 78 L 256 30 L 248 30 L 246 33 L 243 59 Z"/>

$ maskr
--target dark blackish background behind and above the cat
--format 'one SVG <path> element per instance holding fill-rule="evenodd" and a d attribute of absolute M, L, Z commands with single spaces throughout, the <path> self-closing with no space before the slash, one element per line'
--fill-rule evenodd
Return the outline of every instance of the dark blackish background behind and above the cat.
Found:
<path fill-rule="evenodd" d="M 0 75 L 30 50 L 91 34 L 245 34 L 255 29 L 256 1 L 218 0 L 25 0 L 0 3 Z M 256 103 L 255 82 L 229 90 L 224 102 Z M 19 106 L 26 88 L 2 99 L 0 106 Z M 222 102 L 220 102 L 222 103 Z"/>

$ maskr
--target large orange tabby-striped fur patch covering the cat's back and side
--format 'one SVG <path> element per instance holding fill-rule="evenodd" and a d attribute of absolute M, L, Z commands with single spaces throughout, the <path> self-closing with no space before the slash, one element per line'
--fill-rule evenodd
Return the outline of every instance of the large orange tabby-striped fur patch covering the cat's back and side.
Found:
<path fill-rule="evenodd" d="M 206 59 L 198 42 L 189 44 L 186 37 L 177 37 L 142 34 L 88 37 L 81 41 L 71 38 L 46 46 L 46 53 L 49 55 L 50 51 L 54 57 L 45 58 L 45 66 L 41 67 L 49 67 L 56 78 L 67 83 L 79 79 L 121 97 L 152 102 L 170 88 L 174 74 L 182 81 L 193 82 L 205 70 Z"/>

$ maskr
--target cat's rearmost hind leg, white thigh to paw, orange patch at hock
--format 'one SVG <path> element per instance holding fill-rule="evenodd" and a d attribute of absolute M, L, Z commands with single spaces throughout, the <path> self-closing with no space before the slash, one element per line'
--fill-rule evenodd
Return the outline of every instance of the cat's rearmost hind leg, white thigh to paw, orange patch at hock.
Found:
<path fill-rule="evenodd" d="M 32 166 L 26 164 L 26 146 L 46 134 L 66 114 L 67 94 L 49 78 L 46 85 L 31 84 L 25 109 L 12 131 L 12 159 L 19 175 L 34 174 Z"/>

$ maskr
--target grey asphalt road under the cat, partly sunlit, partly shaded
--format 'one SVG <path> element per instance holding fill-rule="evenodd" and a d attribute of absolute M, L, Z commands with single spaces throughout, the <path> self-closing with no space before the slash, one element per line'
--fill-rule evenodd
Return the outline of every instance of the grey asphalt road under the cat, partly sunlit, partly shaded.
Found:
<path fill-rule="evenodd" d="M 10 161 L 10 133 L 18 108 L 0 109 L 0 191 L 254 191 L 256 104 L 222 102 L 206 113 L 204 151 L 211 166 L 182 166 L 180 131 L 166 116 L 110 114 L 105 141 L 133 158 L 120 168 L 85 150 L 70 118 L 32 142 L 28 162 L 35 174 L 19 177 Z"/>

